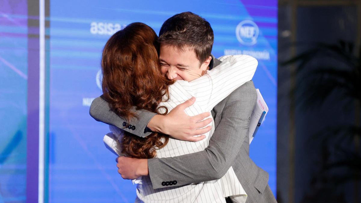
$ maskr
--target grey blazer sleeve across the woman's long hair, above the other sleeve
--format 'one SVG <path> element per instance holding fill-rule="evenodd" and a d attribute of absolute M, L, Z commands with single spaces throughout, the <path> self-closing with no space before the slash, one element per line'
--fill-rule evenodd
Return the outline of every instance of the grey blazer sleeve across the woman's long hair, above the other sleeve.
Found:
<path fill-rule="evenodd" d="M 147 137 L 152 133 L 151 131 L 146 130 L 148 122 L 156 115 L 156 113 L 145 111 L 143 109 L 136 110 L 135 108 L 133 108 L 133 111 L 137 113 L 138 118 L 134 117 L 129 122 L 129 125 L 132 125 L 132 128 L 125 128 L 123 123 L 128 125 L 126 121 L 110 110 L 108 102 L 103 99 L 102 95 L 93 100 L 90 105 L 89 114 L 96 121 L 116 126 L 139 137 Z"/>

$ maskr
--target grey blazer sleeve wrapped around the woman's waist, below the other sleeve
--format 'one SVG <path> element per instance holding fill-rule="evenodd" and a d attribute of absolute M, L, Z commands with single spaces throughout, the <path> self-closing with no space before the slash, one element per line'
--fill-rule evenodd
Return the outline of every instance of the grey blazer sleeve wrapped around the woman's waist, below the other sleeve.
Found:
<path fill-rule="evenodd" d="M 249 81 L 227 98 L 222 119 L 204 151 L 167 158 L 148 159 L 149 176 L 154 189 L 163 181 L 177 181 L 186 185 L 211 181 L 225 175 L 239 154 L 240 146 L 248 138 L 249 121 L 255 107 L 257 93 Z"/>

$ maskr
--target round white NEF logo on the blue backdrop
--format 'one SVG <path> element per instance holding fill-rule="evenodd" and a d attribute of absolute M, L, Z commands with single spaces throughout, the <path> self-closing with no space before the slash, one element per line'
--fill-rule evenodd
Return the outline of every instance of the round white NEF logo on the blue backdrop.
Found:
<path fill-rule="evenodd" d="M 246 46 L 252 46 L 257 43 L 260 30 L 255 22 L 244 20 L 236 27 L 236 37 L 238 41 Z"/>

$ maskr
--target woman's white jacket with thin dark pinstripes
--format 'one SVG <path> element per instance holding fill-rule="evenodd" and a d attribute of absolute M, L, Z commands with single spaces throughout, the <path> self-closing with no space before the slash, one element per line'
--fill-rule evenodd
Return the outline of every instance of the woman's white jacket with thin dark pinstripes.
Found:
<path fill-rule="evenodd" d="M 177 105 L 195 96 L 196 102 L 185 110 L 187 115 L 195 116 L 203 112 L 210 112 L 232 91 L 250 81 L 258 65 L 257 60 L 248 55 L 222 56 L 219 60 L 222 63 L 216 68 L 208 70 L 203 76 L 191 82 L 176 81 L 170 85 L 170 98 L 168 101 L 162 102 L 160 106 L 164 105 L 171 111 Z M 209 117 L 212 118 L 212 116 Z M 165 147 L 157 149 L 157 157 L 174 157 L 203 151 L 208 146 L 214 132 L 214 121 L 209 125 L 212 125 L 212 130 L 205 134 L 205 139 L 198 142 L 182 141 L 170 137 Z M 111 126 L 110 129 L 114 135 L 121 134 L 120 129 L 114 126 Z M 233 198 L 234 201 L 244 202 L 247 198 L 232 167 L 219 180 L 161 189 L 153 189 L 149 176 L 143 176 L 137 185 L 136 194 L 135 202 L 147 203 L 225 202 L 225 197 L 234 195 L 238 195 L 238 198 Z"/>

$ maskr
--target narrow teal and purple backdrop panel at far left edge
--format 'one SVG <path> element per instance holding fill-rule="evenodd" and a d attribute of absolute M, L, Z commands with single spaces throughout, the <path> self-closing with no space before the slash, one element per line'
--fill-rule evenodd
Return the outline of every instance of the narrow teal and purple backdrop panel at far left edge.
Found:
<path fill-rule="evenodd" d="M 26 200 L 27 1 L 0 1 L 0 203 Z"/>

